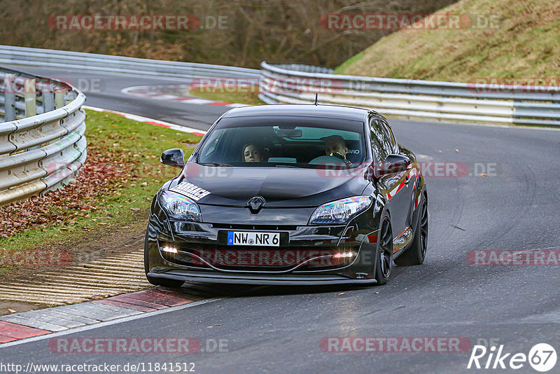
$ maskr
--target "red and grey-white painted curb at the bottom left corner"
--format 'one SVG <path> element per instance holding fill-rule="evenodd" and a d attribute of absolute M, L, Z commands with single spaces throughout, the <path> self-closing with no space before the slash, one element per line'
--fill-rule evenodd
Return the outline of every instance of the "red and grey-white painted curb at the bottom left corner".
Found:
<path fill-rule="evenodd" d="M 123 293 L 104 300 L 9 314 L 0 317 L 0 343 L 84 328 L 127 317 L 141 317 L 142 314 L 195 303 L 197 299 L 199 298 L 176 291 L 148 289 Z"/>

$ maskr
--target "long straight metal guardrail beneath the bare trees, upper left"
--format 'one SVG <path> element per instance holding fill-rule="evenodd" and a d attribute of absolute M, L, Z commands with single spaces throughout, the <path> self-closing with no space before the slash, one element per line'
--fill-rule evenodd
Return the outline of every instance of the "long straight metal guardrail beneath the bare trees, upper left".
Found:
<path fill-rule="evenodd" d="M 259 76 L 258 70 L 242 67 L 148 60 L 14 46 L 0 46 L 0 64 L 2 63 L 165 78 L 186 78 L 189 76 L 257 78 Z"/>

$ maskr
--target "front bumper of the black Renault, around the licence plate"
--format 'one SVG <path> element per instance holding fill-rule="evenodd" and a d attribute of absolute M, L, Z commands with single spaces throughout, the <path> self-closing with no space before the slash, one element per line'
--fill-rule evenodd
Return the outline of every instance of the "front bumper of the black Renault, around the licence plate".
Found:
<path fill-rule="evenodd" d="M 228 212 L 231 208 L 221 209 Z M 377 230 L 374 228 L 378 226 L 377 217 L 370 209 L 341 226 L 308 226 L 295 220 L 283 224 L 267 222 L 267 225 L 193 223 L 168 221 L 159 213 L 151 214 L 148 224 L 145 259 L 148 277 L 282 285 L 375 282 Z M 276 210 L 276 213 L 281 212 Z M 227 245 L 228 231 L 280 233 L 280 246 Z M 164 251 L 165 247 L 172 247 L 176 253 Z M 356 256 L 334 257 L 349 252 Z M 281 260 L 267 263 L 262 258 Z"/>

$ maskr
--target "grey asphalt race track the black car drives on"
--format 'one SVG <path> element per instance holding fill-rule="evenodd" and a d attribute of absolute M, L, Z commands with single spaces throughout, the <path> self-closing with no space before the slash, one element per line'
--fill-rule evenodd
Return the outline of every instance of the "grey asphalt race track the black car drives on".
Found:
<path fill-rule="evenodd" d="M 60 77 L 90 76 L 27 68 Z M 96 74 L 94 74 L 96 75 Z M 100 76 L 87 104 L 205 130 L 226 109 L 126 97 L 132 85 L 178 84 Z M 186 79 L 188 82 L 188 79 Z M 181 82 L 183 83 L 183 82 Z M 560 249 L 560 131 L 391 121 L 395 136 L 427 162 L 464 162 L 471 175 L 427 176 L 426 262 L 396 267 L 385 286 L 239 287 L 239 292 L 141 319 L 69 331 L 64 338 L 226 339 L 228 352 L 62 354 L 47 335 L 0 347 L 3 363 L 195 363 L 196 373 L 469 373 L 465 352 L 323 352 L 325 337 L 462 337 L 528 354 L 560 353 L 560 267 L 470 265 L 473 250 Z M 458 151 L 457 151 L 458 150 Z M 463 165 L 463 164 L 461 164 Z M 484 167 L 484 169 L 483 169 Z M 489 170 L 488 167 L 491 169 Z M 495 172 L 493 172 L 495 170 Z M 480 174 L 487 174 L 486 177 Z M 343 293 L 343 294 L 341 294 Z M 209 349 L 204 349 L 208 351 Z M 486 363 L 487 355 L 484 357 Z M 507 360 L 505 361 L 507 363 Z M 147 368 L 147 366 L 146 366 Z M 528 363 L 516 373 L 537 373 Z M 47 372 L 47 371 L 44 371 Z M 560 362 L 549 373 L 559 373 Z"/>

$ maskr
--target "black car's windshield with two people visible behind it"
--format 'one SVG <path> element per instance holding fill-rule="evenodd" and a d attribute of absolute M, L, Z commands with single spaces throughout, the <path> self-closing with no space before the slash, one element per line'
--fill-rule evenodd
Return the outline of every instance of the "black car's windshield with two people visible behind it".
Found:
<path fill-rule="evenodd" d="M 246 167 L 355 167 L 365 158 L 363 124 L 332 118 L 224 118 L 197 162 Z"/>

